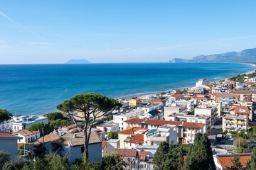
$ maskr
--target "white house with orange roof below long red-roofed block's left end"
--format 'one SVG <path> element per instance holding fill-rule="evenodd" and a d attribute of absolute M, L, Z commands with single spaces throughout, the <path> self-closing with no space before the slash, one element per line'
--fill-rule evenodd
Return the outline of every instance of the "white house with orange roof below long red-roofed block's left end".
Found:
<path fill-rule="evenodd" d="M 137 134 L 143 134 L 147 130 L 149 129 L 139 128 L 139 127 L 130 127 L 118 132 L 118 139 L 120 140 L 120 148 L 124 148 L 124 140 L 126 140 L 127 137 L 130 137 L 132 135 L 137 135 Z"/>

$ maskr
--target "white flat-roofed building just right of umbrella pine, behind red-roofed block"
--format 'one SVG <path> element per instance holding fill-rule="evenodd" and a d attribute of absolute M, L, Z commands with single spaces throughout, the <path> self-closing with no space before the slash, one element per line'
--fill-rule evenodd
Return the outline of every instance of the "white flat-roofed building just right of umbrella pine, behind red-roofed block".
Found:
<path fill-rule="evenodd" d="M 144 110 L 132 109 L 126 113 L 119 113 L 113 116 L 114 123 L 119 124 L 119 130 L 124 130 L 127 128 L 127 124 L 124 122 L 130 118 L 139 118 L 139 115 L 143 115 Z"/>

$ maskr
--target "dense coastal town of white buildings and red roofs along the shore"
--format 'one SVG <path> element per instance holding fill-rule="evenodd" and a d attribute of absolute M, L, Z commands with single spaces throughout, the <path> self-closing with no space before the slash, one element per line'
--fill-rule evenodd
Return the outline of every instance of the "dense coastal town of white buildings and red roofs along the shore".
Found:
<path fill-rule="evenodd" d="M 122 106 L 101 112 L 92 123 L 88 154 L 92 162 L 115 152 L 124 169 L 154 169 L 155 153 L 166 142 L 186 150 L 196 134 L 206 134 L 216 169 L 229 169 L 234 157 L 243 169 L 256 142 L 256 72 L 195 86 L 115 99 Z M 75 164 L 84 157 L 82 112 L 13 115 L 0 124 L 0 150 L 11 157 L 55 153 Z M 89 126 L 88 126 L 89 127 Z M 183 159 L 186 159 L 186 155 Z"/>

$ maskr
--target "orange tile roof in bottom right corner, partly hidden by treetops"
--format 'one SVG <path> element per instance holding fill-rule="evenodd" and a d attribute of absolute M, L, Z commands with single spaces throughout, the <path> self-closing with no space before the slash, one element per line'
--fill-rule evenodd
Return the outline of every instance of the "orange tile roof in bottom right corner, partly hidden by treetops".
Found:
<path fill-rule="evenodd" d="M 251 158 L 252 153 L 236 155 L 240 157 L 242 168 L 245 168 L 245 164 L 247 160 Z M 231 162 L 231 160 L 234 159 L 233 154 L 218 154 L 216 158 L 218 159 L 218 162 L 220 162 L 220 165 L 223 167 L 223 169 L 228 169 L 228 167 L 231 167 L 233 165 L 233 163 Z"/>

